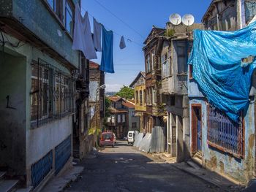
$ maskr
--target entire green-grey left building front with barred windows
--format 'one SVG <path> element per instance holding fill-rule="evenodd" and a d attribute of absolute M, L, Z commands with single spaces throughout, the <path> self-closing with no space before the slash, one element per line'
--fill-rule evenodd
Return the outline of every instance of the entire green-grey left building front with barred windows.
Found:
<path fill-rule="evenodd" d="M 78 0 L 51 2 L 0 7 L 0 168 L 34 188 L 72 161 Z"/>

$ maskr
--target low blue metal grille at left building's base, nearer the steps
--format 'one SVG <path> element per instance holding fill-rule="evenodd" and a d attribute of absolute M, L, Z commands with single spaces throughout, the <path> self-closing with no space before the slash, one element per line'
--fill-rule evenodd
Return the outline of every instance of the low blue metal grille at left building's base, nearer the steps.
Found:
<path fill-rule="evenodd" d="M 41 158 L 37 163 L 31 166 L 31 180 L 34 188 L 44 180 L 46 175 L 53 168 L 53 151 Z"/>

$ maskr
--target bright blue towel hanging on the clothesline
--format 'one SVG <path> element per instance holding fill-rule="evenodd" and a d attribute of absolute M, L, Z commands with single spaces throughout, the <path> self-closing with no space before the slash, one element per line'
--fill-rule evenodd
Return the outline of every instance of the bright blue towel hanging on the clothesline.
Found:
<path fill-rule="evenodd" d="M 113 31 L 107 31 L 104 26 L 102 26 L 102 61 L 99 69 L 103 72 L 114 73 Z"/>

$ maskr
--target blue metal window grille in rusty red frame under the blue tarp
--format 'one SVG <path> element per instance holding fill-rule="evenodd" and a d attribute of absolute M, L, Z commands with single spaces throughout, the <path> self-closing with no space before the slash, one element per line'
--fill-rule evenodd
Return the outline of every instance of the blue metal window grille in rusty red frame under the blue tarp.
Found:
<path fill-rule="evenodd" d="M 208 145 L 217 147 L 227 153 L 243 156 L 243 125 L 235 123 L 230 118 L 213 107 L 208 108 Z"/>

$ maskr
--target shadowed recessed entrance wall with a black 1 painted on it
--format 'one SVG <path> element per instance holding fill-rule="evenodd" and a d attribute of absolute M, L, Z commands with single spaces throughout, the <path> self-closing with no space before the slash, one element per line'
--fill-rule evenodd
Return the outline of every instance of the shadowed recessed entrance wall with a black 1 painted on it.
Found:
<path fill-rule="evenodd" d="M 0 87 L 0 166 L 23 175 L 26 167 L 26 58 L 23 55 L 0 52 Z"/>

